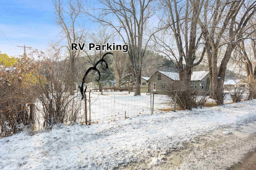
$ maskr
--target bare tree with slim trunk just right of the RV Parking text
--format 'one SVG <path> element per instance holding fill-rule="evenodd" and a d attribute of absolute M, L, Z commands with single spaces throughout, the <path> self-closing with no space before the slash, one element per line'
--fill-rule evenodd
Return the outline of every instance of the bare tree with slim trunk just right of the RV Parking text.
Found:
<path fill-rule="evenodd" d="M 133 66 L 136 88 L 140 87 L 142 58 L 151 36 L 146 35 L 146 24 L 154 15 L 153 0 L 98 0 L 99 8 L 93 8 L 98 14 L 92 15 L 94 20 L 112 27 L 121 40 L 129 45 L 129 59 Z M 154 4 L 153 4 L 154 5 Z M 145 39 L 145 42 L 143 42 Z M 140 95 L 136 89 L 135 96 Z"/>

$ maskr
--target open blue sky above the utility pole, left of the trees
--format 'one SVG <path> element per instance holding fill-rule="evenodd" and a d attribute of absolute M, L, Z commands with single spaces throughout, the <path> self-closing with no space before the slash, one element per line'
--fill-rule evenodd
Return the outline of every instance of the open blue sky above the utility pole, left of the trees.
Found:
<path fill-rule="evenodd" d="M 45 51 L 58 37 L 52 0 L 0 0 L 0 51 L 23 55 L 23 48 Z M 28 53 L 29 51 L 27 51 Z"/>

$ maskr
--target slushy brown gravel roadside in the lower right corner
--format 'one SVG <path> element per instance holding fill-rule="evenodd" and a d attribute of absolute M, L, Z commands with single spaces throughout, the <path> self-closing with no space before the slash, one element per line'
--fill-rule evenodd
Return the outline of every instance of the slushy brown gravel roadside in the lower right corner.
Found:
<path fill-rule="evenodd" d="M 152 160 L 146 160 L 129 164 L 125 169 L 255 170 L 256 121 L 232 128 L 220 127 L 184 146 L 156 160 L 158 165 L 152 166 Z"/>

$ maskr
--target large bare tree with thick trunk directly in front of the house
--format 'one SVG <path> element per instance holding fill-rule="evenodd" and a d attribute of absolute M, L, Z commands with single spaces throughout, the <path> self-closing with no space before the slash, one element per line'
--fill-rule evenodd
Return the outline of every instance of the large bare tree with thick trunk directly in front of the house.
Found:
<path fill-rule="evenodd" d="M 162 0 L 161 13 L 164 31 L 154 36 L 156 47 L 178 66 L 180 85 L 190 88 L 192 67 L 200 64 L 205 49 L 200 48 L 201 37 L 198 21 L 204 0 Z M 164 17 L 162 17 L 164 16 Z"/>

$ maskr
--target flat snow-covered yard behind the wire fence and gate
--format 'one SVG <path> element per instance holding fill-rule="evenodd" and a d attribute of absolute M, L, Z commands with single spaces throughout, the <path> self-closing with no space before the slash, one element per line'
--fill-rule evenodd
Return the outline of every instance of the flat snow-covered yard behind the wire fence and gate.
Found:
<path fill-rule="evenodd" d="M 92 123 L 98 122 L 110 122 L 117 121 L 120 119 L 136 117 L 141 115 L 151 115 L 151 109 L 153 106 L 153 95 L 148 93 L 141 93 L 140 96 L 134 96 L 134 92 L 128 93 L 128 91 L 104 91 L 103 95 L 101 92 L 92 91 L 86 93 L 87 96 L 87 116 L 88 121 L 91 118 Z M 85 104 L 84 100 L 80 100 L 80 93 L 76 93 L 72 101 L 72 108 L 76 109 L 78 119 L 76 122 L 85 122 Z M 90 100 L 90 103 L 89 103 Z M 42 104 L 37 101 L 36 104 L 36 127 L 42 129 L 44 118 L 43 118 L 43 107 Z M 159 113 L 166 108 L 173 108 L 173 102 L 168 102 L 166 95 L 154 95 L 154 113 Z M 68 114 L 72 115 L 72 113 Z M 91 116 L 91 117 L 90 117 Z M 66 118 L 69 119 L 68 117 Z M 39 123 L 38 123 L 39 122 Z M 67 121 L 69 124 L 70 121 Z"/>

